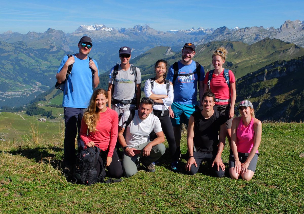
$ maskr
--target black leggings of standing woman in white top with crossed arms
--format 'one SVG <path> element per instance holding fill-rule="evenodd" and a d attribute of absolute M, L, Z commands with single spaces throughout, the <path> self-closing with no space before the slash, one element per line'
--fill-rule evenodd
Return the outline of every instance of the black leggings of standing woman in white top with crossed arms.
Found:
<path fill-rule="evenodd" d="M 172 127 L 172 123 L 171 123 L 170 116 L 169 116 L 169 110 L 168 109 L 165 110 L 163 116 L 161 116 L 161 112 L 162 112 L 161 110 L 153 109 L 153 114 L 155 116 L 157 116 L 159 118 L 159 120 L 161 121 L 161 128 L 168 141 L 169 150 L 172 155 L 172 161 L 177 161 L 179 159 L 181 149 L 180 149 L 180 147 L 178 147 L 178 148 L 176 147 L 173 127 Z M 154 140 L 155 138 L 157 138 L 157 136 L 156 136 L 155 132 L 152 131 L 150 134 L 150 140 Z"/>

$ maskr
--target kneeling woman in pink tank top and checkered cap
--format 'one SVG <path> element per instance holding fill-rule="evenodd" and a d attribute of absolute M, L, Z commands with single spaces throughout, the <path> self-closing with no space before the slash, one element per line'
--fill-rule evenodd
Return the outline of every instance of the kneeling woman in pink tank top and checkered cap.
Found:
<path fill-rule="evenodd" d="M 253 105 L 249 100 L 240 102 L 239 110 L 241 117 L 234 118 L 231 127 L 229 174 L 232 179 L 242 177 L 249 181 L 257 166 L 262 123 L 254 118 Z"/>

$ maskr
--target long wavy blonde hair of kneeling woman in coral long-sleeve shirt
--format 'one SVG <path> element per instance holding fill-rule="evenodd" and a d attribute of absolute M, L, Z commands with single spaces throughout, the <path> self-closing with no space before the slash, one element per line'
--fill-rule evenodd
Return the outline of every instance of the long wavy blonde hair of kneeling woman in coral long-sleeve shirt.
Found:
<path fill-rule="evenodd" d="M 99 121 L 99 109 L 96 106 L 96 97 L 99 94 L 105 95 L 105 98 L 108 99 L 108 93 L 105 89 L 97 89 L 93 92 L 88 108 L 85 110 L 83 114 L 83 120 L 88 125 L 88 129 L 90 132 L 98 131 L 96 129 L 97 122 Z"/>

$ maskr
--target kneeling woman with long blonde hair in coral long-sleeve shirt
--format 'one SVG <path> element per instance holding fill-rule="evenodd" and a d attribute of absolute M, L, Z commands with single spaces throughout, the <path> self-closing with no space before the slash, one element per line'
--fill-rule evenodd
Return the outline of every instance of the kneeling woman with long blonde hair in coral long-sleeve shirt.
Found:
<path fill-rule="evenodd" d="M 106 107 L 108 93 L 104 89 L 93 92 L 88 108 L 86 109 L 80 129 L 80 138 L 85 148 L 97 146 L 107 154 L 106 160 L 99 156 L 97 174 L 99 176 L 105 165 L 109 177 L 120 178 L 123 174 L 121 161 L 115 150 L 118 133 L 118 114 Z M 102 153 L 101 153 L 102 154 Z"/>

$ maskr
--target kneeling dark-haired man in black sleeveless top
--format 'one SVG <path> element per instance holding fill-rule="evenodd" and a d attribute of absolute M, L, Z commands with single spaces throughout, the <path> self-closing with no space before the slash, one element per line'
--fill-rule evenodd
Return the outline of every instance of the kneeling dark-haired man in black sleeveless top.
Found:
<path fill-rule="evenodd" d="M 225 114 L 213 110 L 215 96 L 207 91 L 202 98 L 201 111 L 195 111 L 189 118 L 187 145 L 189 158 L 186 171 L 194 175 L 199 165 L 206 160 L 216 177 L 223 177 L 225 165 L 221 158 L 226 139 Z"/>

